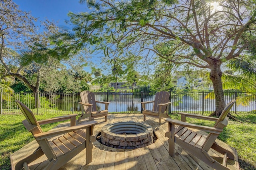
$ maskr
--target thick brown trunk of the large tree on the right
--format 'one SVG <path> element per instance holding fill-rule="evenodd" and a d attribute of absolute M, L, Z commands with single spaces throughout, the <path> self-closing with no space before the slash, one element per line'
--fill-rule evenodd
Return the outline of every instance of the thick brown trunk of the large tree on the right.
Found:
<path fill-rule="evenodd" d="M 212 80 L 214 95 L 215 95 L 215 112 L 212 115 L 220 116 L 222 110 L 225 107 L 224 93 L 222 88 L 222 71 L 220 70 L 220 61 L 214 61 L 216 63 L 211 64 L 210 79 Z"/>

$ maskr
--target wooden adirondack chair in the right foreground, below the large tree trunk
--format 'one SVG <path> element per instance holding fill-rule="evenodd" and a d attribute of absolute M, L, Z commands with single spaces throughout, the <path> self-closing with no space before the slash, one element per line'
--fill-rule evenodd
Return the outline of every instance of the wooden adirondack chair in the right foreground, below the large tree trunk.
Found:
<path fill-rule="evenodd" d="M 219 118 L 181 113 L 181 121 L 169 118 L 166 119 L 169 126 L 169 132 L 166 133 L 166 137 L 169 137 L 169 155 L 174 156 L 174 143 L 177 143 L 184 150 L 187 150 L 194 156 L 198 157 L 212 168 L 216 170 L 229 170 L 229 168 L 226 167 L 227 157 L 234 160 L 235 156 L 231 147 L 228 145 L 222 145 L 222 143 L 216 139 L 222 132 L 223 128 L 228 125 L 227 114 L 235 102 L 236 100 L 230 101 L 222 111 Z M 214 127 L 195 125 L 187 123 L 186 117 L 215 121 L 216 123 L 214 124 Z M 209 133 L 202 133 L 202 131 Z M 222 164 L 214 160 L 208 154 L 210 148 L 224 155 Z"/>

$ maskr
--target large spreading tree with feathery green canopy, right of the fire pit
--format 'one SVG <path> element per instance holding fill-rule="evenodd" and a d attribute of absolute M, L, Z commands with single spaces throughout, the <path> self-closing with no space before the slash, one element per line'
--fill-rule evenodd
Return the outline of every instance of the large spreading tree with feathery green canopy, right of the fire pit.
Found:
<path fill-rule="evenodd" d="M 80 2 L 85 2 L 81 0 Z M 210 70 L 216 115 L 225 107 L 221 65 L 255 45 L 254 0 L 88 0 L 90 13 L 69 13 L 74 45 L 107 46 L 113 57 L 158 55 Z M 100 46 L 102 45 L 102 46 Z M 93 46 L 95 47 L 95 46 Z"/>

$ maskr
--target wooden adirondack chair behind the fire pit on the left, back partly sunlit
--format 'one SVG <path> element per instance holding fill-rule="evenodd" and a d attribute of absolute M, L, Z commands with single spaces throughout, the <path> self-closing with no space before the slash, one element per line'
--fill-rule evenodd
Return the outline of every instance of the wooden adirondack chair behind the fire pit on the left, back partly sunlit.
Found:
<path fill-rule="evenodd" d="M 80 102 L 78 103 L 82 105 L 82 115 L 78 117 L 78 120 L 89 117 L 89 120 L 91 121 L 94 118 L 105 116 L 105 121 L 107 121 L 108 105 L 110 102 L 96 101 L 93 92 L 82 91 L 80 93 Z M 105 104 L 105 109 L 98 111 L 96 103 Z"/>

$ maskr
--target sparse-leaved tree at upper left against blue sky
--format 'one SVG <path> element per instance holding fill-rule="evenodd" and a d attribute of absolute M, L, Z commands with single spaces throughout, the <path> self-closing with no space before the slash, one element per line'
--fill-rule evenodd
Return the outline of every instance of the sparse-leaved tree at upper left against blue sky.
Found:
<path fill-rule="evenodd" d="M 12 0 L 2 0 L 0 8 L 0 61 L 5 68 L 2 77 L 16 77 L 32 92 L 39 92 L 42 78 L 60 68 L 62 60 L 72 57 L 69 53 L 63 55 L 63 49 L 50 39 L 60 29 L 48 20 L 35 26 L 36 18 L 19 10 Z"/>

